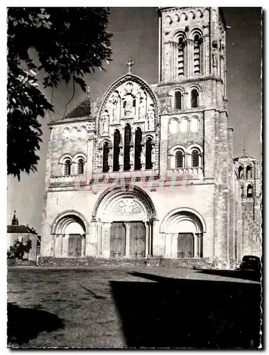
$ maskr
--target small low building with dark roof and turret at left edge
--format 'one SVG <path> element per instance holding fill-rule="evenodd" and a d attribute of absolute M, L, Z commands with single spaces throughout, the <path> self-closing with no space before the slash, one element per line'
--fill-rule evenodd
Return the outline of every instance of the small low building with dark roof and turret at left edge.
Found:
<path fill-rule="evenodd" d="M 18 224 L 18 218 L 16 218 L 16 211 L 14 211 L 11 225 L 7 226 L 7 250 L 10 246 L 13 246 L 16 240 L 27 242 L 29 239 L 32 242 L 32 247 L 29 253 L 25 253 L 23 258 L 29 261 L 36 261 L 38 249 L 40 248 L 40 239 L 38 234 L 33 228 Z"/>

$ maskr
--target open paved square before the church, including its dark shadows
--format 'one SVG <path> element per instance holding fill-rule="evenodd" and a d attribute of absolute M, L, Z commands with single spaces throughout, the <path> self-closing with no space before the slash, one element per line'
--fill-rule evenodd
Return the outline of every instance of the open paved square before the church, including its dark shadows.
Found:
<path fill-rule="evenodd" d="M 8 318 L 11 347 L 257 348 L 260 283 L 239 271 L 16 267 Z"/>

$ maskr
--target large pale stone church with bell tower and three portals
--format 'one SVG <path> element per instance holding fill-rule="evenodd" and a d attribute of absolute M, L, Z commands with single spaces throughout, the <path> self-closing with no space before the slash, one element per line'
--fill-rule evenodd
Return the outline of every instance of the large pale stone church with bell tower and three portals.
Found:
<path fill-rule="evenodd" d="M 233 157 L 219 8 L 159 9 L 159 80 L 129 60 L 51 121 L 40 260 L 260 256 L 260 163 Z"/>

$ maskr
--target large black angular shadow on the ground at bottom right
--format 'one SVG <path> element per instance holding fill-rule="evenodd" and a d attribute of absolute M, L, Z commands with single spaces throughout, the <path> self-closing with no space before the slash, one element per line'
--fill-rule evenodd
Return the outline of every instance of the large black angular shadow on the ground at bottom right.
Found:
<path fill-rule="evenodd" d="M 260 285 L 165 278 L 111 281 L 128 347 L 256 349 Z"/>

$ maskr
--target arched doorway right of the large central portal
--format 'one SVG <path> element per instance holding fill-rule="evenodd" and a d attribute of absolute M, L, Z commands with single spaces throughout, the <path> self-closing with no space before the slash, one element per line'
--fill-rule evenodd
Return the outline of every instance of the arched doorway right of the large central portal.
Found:
<path fill-rule="evenodd" d="M 169 212 L 160 226 L 165 234 L 165 256 L 172 258 L 202 258 L 204 219 L 193 209 Z"/>

